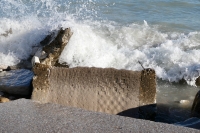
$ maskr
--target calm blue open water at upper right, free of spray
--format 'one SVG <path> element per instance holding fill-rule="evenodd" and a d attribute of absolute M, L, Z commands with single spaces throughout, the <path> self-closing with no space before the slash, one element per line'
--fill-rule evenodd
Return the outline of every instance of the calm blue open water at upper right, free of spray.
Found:
<path fill-rule="evenodd" d="M 115 22 L 127 24 L 146 20 L 150 24 L 173 28 L 174 31 L 199 30 L 198 0 L 110 0 L 97 3 L 100 5 L 100 16 Z"/>

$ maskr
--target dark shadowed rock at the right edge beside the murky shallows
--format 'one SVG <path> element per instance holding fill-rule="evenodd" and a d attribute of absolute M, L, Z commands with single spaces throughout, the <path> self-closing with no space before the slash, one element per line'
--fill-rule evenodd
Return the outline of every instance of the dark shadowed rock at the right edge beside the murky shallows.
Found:
<path fill-rule="evenodd" d="M 197 92 L 192 104 L 191 116 L 200 118 L 200 91 Z"/>

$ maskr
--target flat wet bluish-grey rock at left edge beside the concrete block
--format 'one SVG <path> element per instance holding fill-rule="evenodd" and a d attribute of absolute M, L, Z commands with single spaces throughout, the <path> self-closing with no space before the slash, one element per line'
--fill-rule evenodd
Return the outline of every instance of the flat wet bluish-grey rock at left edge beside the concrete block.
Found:
<path fill-rule="evenodd" d="M 30 95 L 33 72 L 19 69 L 0 72 L 0 91 L 13 95 Z"/>

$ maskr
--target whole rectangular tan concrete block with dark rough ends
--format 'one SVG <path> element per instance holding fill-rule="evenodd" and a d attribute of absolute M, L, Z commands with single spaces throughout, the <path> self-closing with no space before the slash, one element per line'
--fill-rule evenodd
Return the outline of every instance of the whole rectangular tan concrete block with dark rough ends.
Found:
<path fill-rule="evenodd" d="M 42 103 L 58 103 L 110 114 L 155 103 L 154 70 L 48 68 L 36 64 L 34 73 L 32 99 Z M 133 117 L 138 117 L 138 111 L 138 108 L 134 110 Z"/>

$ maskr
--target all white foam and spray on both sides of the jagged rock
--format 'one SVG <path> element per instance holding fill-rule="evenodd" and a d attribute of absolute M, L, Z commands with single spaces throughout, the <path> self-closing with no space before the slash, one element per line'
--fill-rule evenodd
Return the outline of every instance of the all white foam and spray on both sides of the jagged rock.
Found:
<path fill-rule="evenodd" d="M 170 82 L 185 79 L 195 85 L 200 75 L 199 31 L 163 30 L 165 26 L 148 24 L 148 21 L 113 22 L 99 17 L 103 16 L 98 14 L 103 3 L 3 0 L 0 3 L 0 65 L 17 64 L 28 58 L 32 47 L 49 32 L 70 27 L 73 36 L 60 57 L 61 63 L 70 67 L 142 70 L 140 61 L 145 68 L 155 69 L 160 79 Z M 110 1 L 109 5 L 114 7 L 117 3 Z M 10 29 L 12 33 L 8 32 Z"/>

